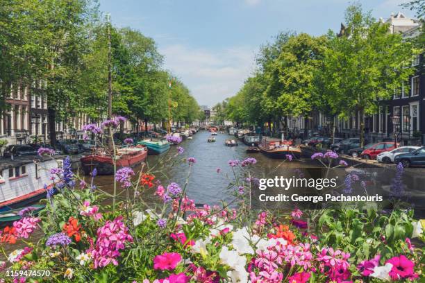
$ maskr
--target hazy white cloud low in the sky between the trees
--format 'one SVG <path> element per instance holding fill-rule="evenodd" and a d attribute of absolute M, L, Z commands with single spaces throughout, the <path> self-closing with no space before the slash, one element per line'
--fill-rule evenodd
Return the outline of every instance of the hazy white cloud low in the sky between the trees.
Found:
<path fill-rule="evenodd" d="M 160 53 L 165 68 L 183 80 L 201 105 L 212 106 L 236 94 L 254 67 L 254 51 L 247 46 L 213 51 L 174 44 Z"/>

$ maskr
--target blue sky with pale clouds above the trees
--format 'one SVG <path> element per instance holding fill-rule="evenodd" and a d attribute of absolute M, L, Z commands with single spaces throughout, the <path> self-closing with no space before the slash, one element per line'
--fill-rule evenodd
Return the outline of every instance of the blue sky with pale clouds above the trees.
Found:
<path fill-rule="evenodd" d="M 407 0 L 361 0 L 376 18 L 404 12 Z M 156 41 L 164 68 L 188 86 L 199 105 L 235 95 L 254 71 L 261 46 L 281 31 L 322 35 L 344 22 L 345 0 L 100 0 L 113 24 Z"/>

